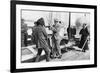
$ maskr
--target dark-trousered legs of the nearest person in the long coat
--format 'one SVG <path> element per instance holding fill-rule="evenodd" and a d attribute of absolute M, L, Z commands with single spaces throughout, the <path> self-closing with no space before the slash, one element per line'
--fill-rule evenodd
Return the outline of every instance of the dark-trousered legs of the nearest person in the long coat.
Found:
<path fill-rule="evenodd" d="M 49 50 L 49 48 L 39 48 L 35 62 L 39 62 L 42 50 L 45 51 L 46 61 L 50 61 L 50 50 Z"/>

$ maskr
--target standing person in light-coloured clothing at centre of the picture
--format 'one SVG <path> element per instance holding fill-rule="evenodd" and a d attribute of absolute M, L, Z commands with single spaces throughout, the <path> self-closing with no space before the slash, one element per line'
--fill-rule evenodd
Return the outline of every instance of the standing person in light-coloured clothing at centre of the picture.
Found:
<path fill-rule="evenodd" d="M 61 49 L 60 49 L 60 35 L 59 31 L 61 28 L 61 21 L 58 21 L 58 19 L 54 19 L 54 26 L 51 27 L 51 30 L 53 31 L 52 35 L 52 54 L 54 58 L 61 58 Z"/>

